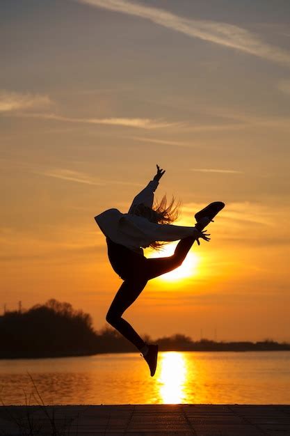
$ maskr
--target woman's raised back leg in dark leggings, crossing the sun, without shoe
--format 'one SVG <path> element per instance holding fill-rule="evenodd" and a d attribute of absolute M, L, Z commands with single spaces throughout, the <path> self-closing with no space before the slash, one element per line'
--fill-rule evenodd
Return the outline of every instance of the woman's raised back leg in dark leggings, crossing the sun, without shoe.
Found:
<path fill-rule="evenodd" d="M 166 272 L 170 272 L 175 270 L 175 268 L 182 265 L 182 262 L 186 258 L 186 254 L 191 249 L 193 242 L 195 241 L 195 237 L 188 236 L 188 238 L 184 238 L 180 240 L 175 247 L 175 252 L 172 256 L 166 258 L 150 258 L 147 259 L 145 275 L 146 279 L 154 279 L 154 277 L 159 277 L 162 274 L 166 274 Z"/>

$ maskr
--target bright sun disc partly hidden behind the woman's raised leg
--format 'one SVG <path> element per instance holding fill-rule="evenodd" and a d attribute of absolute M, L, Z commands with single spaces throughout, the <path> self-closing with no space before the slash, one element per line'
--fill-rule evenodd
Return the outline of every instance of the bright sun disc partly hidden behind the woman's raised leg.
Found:
<path fill-rule="evenodd" d="M 172 256 L 175 250 L 175 245 L 168 244 L 165 245 L 162 251 L 154 252 L 152 256 L 148 257 L 166 257 Z M 200 263 L 200 258 L 197 254 L 189 251 L 186 258 L 184 259 L 182 265 L 177 267 L 175 270 L 167 272 L 159 277 L 162 281 L 177 281 L 180 279 L 186 279 L 186 277 L 195 276 L 198 273 L 198 264 Z"/>

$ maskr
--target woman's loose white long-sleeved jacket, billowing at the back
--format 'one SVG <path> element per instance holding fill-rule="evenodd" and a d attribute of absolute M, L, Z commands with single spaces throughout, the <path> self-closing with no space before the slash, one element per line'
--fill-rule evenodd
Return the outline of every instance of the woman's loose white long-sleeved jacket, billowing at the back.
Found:
<path fill-rule="evenodd" d="M 152 180 L 148 183 L 131 204 L 128 213 L 123 214 L 118 209 L 108 209 L 95 217 L 104 235 L 116 244 L 124 245 L 140 254 L 154 241 L 176 241 L 199 233 L 195 227 L 174 226 L 172 224 L 154 224 L 148 219 L 132 215 L 132 211 L 143 203 L 152 208 L 154 191 L 159 182 Z"/>

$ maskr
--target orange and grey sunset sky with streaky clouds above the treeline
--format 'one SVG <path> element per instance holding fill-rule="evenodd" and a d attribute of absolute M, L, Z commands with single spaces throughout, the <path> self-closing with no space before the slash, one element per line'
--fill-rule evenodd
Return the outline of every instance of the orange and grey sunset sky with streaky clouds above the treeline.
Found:
<path fill-rule="evenodd" d="M 0 313 L 56 298 L 103 327 L 121 281 L 94 216 L 159 164 L 179 224 L 226 207 L 125 318 L 290 341 L 290 2 L 2 0 L 0 47 Z"/>

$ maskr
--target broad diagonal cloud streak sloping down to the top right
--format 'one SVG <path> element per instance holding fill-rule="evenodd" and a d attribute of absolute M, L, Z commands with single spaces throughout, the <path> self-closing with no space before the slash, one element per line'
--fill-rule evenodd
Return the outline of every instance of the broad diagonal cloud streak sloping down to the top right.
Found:
<path fill-rule="evenodd" d="M 144 6 L 127 0 L 78 0 L 90 6 L 113 10 L 115 12 L 142 17 L 155 24 L 184 33 L 192 38 L 214 42 L 215 44 L 268 59 L 290 67 L 290 53 L 270 45 L 239 26 L 210 20 L 190 20 L 160 8 Z"/>

